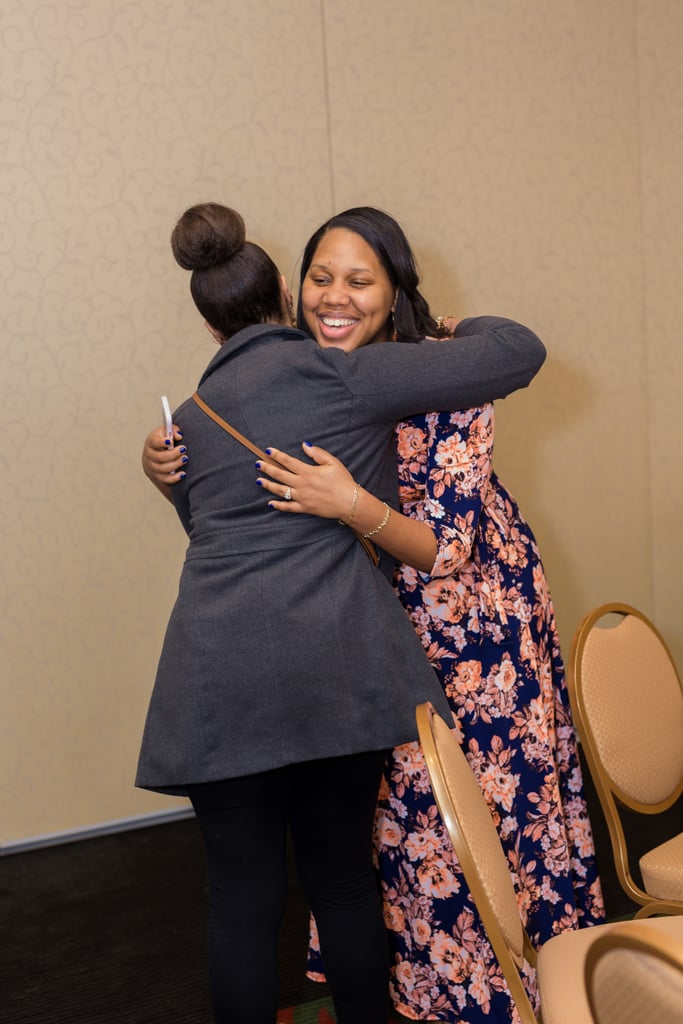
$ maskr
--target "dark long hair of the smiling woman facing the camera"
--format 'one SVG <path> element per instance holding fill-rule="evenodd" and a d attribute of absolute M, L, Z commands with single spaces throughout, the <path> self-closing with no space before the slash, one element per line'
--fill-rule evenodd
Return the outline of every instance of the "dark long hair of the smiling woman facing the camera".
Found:
<path fill-rule="evenodd" d="M 299 282 L 297 322 L 300 328 L 306 330 L 301 304 L 301 286 L 308 273 L 321 239 L 334 227 L 342 227 L 347 231 L 359 234 L 375 252 L 386 270 L 389 281 L 397 293 L 393 327 L 398 341 L 419 341 L 427 335 L 438 337 L 444 333 L 429 311 L 429 304 L 418 288 L 420 274 L 413 250 L 402 227 L 388 213 L 372 206 L 357 206 L 350 210 L 344 210 L 343 213 L 335 214 L 330 220 L 326 220 L 308 240 L 301 261 Z"/>

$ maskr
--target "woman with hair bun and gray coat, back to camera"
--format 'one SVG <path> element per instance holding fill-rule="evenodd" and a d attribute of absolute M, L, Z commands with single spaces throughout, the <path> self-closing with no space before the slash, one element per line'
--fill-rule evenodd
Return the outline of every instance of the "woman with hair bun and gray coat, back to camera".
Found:
<path fill-rule="evenodd" d="M 396 503 L 396 421 L 503 397 L 545 357 L 530 331 L 494 317 L 462 322 L 452 341 L 344 351 L 352 331 L 388 340 L 391 308 L 396 330 L 403 319 L 437 331 L 424 300 L 399 294 L 370 255 L 357 308 L 327 317 L 331 343 L 319 347 L 288 326 L 289 295 L 239 214 L 191 208 L 172 245 L 221 342 L 202 399 L 261 447 L 276 439 L 295 453 L 314 439 L 383 497 L 385 515 Z M 186 794 L 196 810 L 216 1021 L 275 1021 L 289 825 L 339 1024 L 377 1024 L 387 954 L 371 834 L 384 755 L 416 738 L 417 703 L 444 716 L 447 705 L 387 575 L 351 530 L 269 509 L 253 456 L 194 400 L 174 421 L 191 447 L 173 487 L 189 544 L 136 782 Z"/>

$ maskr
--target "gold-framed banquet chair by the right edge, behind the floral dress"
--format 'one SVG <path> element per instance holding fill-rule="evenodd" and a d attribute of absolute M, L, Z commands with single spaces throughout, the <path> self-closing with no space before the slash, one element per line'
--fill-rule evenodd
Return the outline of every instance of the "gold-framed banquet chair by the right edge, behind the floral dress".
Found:
<path fill-rule="evenodd" d="M 617 625 L 609 626 L 616 616 Z M 683 690 L 656 629 L 636 608 L 595 608 L 577 630 L 567 673 L 574 725 L 609 830 L 614 867 L 635 916 L 683 912 L 683 831 L 638 860 L 620 809 L 657 815 L 683 794 Z M 679 805 L 680 806 L 680 805 Z"/>

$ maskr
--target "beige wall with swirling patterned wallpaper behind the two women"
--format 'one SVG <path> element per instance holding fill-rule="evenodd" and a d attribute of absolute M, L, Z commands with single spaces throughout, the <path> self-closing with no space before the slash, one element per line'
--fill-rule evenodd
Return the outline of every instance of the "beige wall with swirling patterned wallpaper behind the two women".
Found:
<path fill-rule="evenodd" d="M 183 806 L 132 778 L 184 549 L 139 450 L 212 354 L 168 244 L 194 202 L 290 279 L 382 206 L 437 311 L 535 327 L 498 468 L 565 652 L 617 597 L 683 663 L 682 31 L 677 0 L 7 0 L 0 846 Z"/>

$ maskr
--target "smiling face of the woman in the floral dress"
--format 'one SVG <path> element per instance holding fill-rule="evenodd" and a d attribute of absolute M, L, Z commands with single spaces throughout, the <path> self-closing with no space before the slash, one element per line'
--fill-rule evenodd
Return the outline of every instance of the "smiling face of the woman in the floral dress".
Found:
<path fill-rule="evenodd" d="M 354 231 L 333 227 L 313 253 L 301 305 L 318 345 L 350 352 L 388 341 L 394 289 L 373 248 Z"/>

